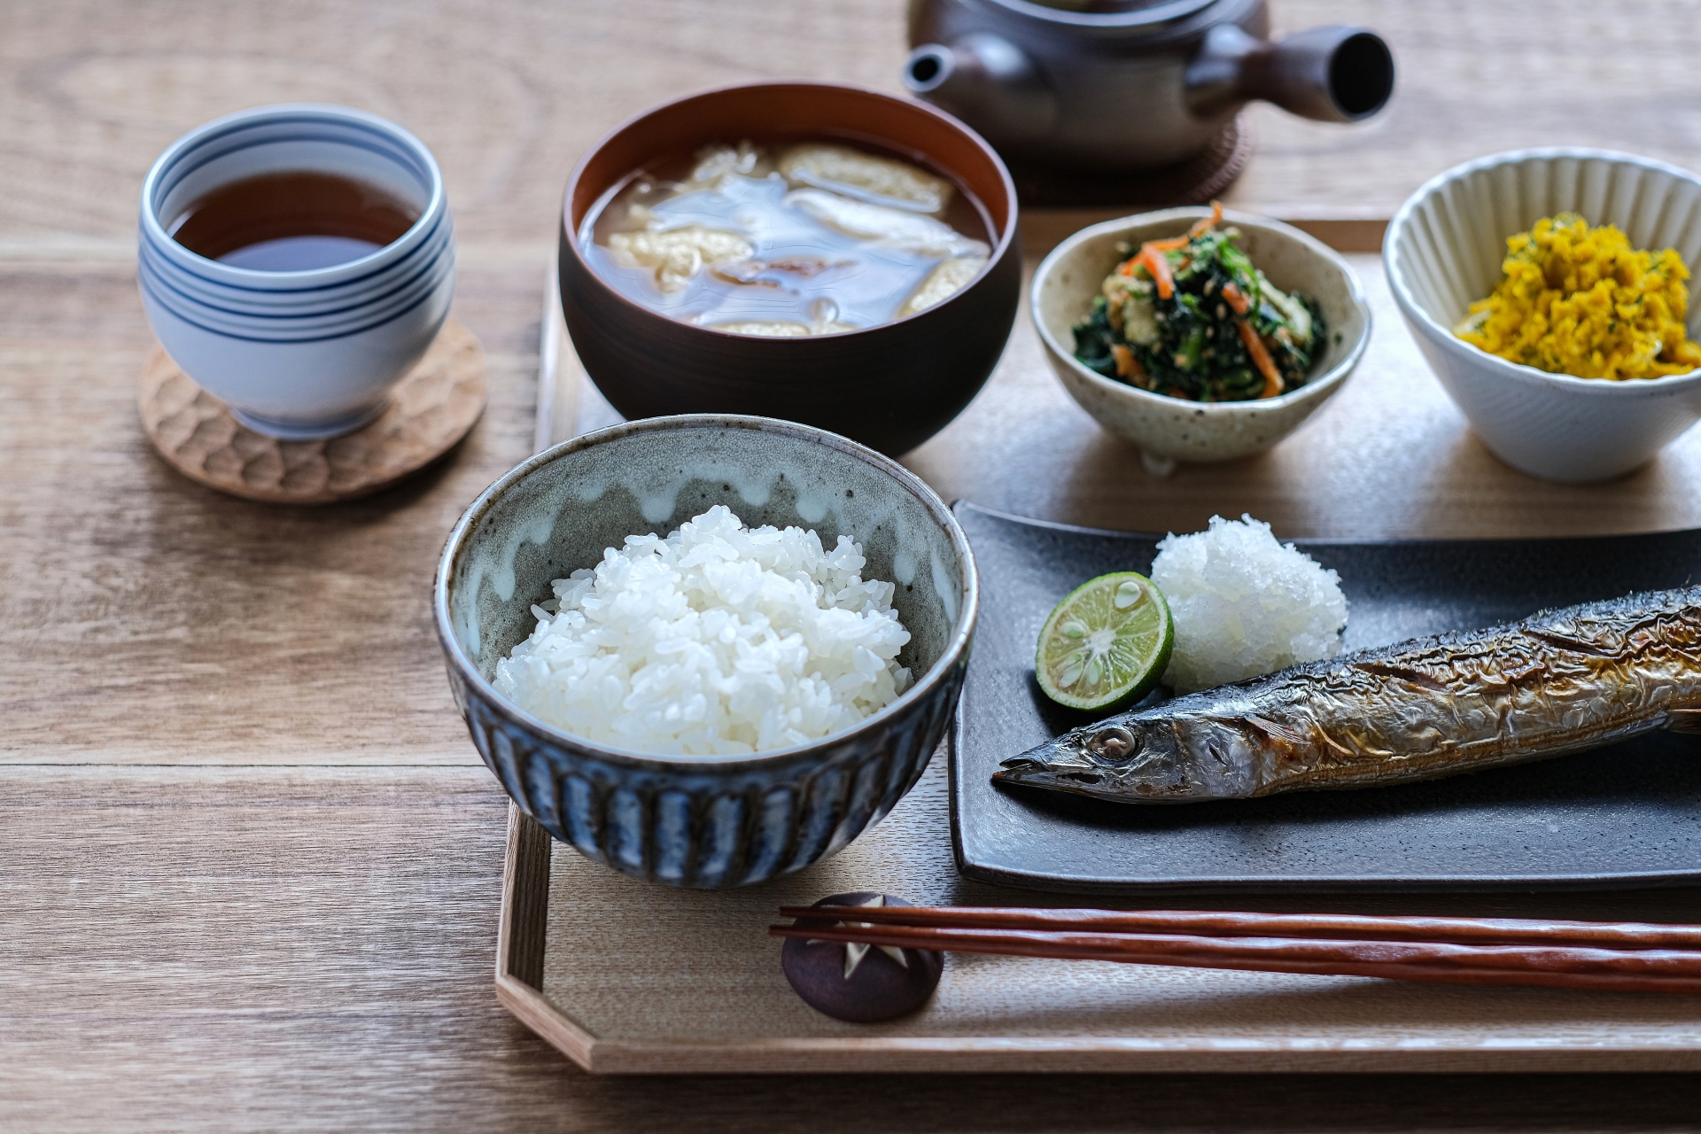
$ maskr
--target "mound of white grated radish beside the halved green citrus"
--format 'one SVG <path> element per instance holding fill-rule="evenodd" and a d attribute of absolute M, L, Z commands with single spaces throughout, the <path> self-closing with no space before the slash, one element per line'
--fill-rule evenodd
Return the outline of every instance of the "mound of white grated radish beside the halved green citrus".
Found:
<path fill-rule="evenodd" d="M 1175 619 L 1163 683 L 1177 692 L 1274 673 L 1340 653 L 1340 576 L 1250 515 L 1211 517 L 1194 536 L 1158 541 L 1152 581 Z"/>

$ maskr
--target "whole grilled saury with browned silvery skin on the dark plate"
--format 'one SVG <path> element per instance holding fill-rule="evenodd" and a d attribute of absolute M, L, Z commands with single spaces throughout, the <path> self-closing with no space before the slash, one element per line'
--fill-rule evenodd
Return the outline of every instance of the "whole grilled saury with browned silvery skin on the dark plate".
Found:
<path fill-rule="evenodd" d="M 1545 610 L 1177 697 L 993 779 L 1123 802 L 1402 784 L 1701 731 L 1701 587 Z"/>

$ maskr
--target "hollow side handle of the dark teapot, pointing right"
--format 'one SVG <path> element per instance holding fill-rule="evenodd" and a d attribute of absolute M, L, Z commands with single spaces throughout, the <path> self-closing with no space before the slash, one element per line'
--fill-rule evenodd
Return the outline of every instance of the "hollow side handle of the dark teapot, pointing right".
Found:
<path fill-rule="evenodd" d="M 1223 24 L 1204 37 L 1184 82 L 1196 117 L 1226 117 L 1264 99 L 1318 122 L 1361 122 L 1393 94 L 1393 53 L 1363 27 L 1311 27 L 1269 43 Z"/>

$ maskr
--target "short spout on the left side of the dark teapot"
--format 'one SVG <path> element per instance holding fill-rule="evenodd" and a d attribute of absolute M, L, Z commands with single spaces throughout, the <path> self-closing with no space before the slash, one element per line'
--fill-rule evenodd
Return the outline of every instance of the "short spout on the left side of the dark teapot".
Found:
<path fill-rule="evenodd" d="M 1044 75 L 1027 53 L 990 32 L 922 44 L 903 65 L 903 85 L 998 148 L 1033 146 L 1056 126 L 1058 99 Z"/>

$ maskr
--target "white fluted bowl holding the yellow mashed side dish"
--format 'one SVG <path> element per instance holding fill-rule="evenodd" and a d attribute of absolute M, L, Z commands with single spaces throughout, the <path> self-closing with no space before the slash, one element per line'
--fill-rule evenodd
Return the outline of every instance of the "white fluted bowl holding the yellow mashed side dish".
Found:
<path fill-rule="evenodd" d="M 1500 282 L 1505 240 L 1555 213 L 1616 224 L 1636 248 L 1701 265 L 1701 177 L 1604 150 L 1519 150 L 1432 179 L 1383 241 L 1395 303 L 1436 377 L 1488 449 L 1551 481 L 1601 481 L 1647 464 L 1701 420 L 1701 371 L 1607 381 L 1507 362 L 1453 328 Z M 1701 306 L 1689 308 L 1689 337 Z"/>

